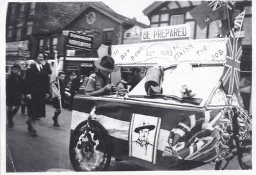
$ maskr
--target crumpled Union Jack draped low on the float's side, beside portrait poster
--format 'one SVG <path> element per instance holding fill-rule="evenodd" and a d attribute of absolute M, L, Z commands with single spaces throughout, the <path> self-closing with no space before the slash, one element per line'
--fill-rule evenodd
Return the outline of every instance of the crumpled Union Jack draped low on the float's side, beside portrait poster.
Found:
<path fill-rule="evenodd" d="M 211 110 L 203 114 L 193 114 L 180 121 L 170 132 L 163 156 L 196 161 L 213 160 L 216 156 L 214 145 L 218 140 L 214 131 L 216 131 L 215 127 L 220 125 L 220 118 L 220 111 Z M 212 154 L 208 155 L 207 153 L 211 151 Z M 202 153 L 201 156 L 198 153 Z M 202 155 L 207 156 L 202 157 Z"/>

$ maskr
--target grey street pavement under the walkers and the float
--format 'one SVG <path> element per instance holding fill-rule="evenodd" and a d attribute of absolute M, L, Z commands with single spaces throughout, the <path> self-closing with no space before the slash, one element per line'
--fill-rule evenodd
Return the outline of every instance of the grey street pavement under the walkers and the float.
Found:
<path fill-rule="evenodd" d="M 47 117 L 36 121 L 38 137 L 31 137 L 26 116 L 17 112 L 13 118 L 13 128 L 6 128 L 6 172 L 74 171 L 68 153 L 72 111 L 63 110 L 62 121 L 59 119 L 60 128 L 52 126 L 53 114 L 54 108 L 47 105 Z M 240 169 L 236 156 L 226 169 Z M 109 166 L 109 171 L 146 170 L 127 161 L 116 162 L 114 158 Z M 193 170 L 214 170 L 214 164 L 205 164 Z"/>

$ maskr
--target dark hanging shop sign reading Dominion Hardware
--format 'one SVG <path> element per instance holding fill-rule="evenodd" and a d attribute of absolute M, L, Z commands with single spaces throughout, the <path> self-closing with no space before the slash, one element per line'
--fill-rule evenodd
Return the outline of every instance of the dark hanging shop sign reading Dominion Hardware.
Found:
<path fill-rule="evenodd" d="M 67 46 L 76 49 L 92 50 L 92 40 L 91 36 L 70 31 Z"/>

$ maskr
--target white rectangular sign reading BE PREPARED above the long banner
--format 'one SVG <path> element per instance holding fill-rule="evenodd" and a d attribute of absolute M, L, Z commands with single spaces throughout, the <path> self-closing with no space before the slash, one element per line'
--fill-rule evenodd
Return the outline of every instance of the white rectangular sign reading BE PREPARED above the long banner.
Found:
<path fill-rule="evenodd" d="M 175 26 L 152 27 L 142 29 L 141 41 L 156 40 L 177 40 L 186 39 L 190 36 L 189 24 L 180 24 Z"/>

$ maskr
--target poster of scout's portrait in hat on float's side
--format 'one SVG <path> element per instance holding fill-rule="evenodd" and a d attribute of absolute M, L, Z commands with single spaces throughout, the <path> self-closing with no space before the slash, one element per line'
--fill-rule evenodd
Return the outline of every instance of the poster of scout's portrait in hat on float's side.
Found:
<path fill-rule="evenodd" d="M 129 156 L 156 164 L 161 118 L 133 114 L 129 132 Z"/>

